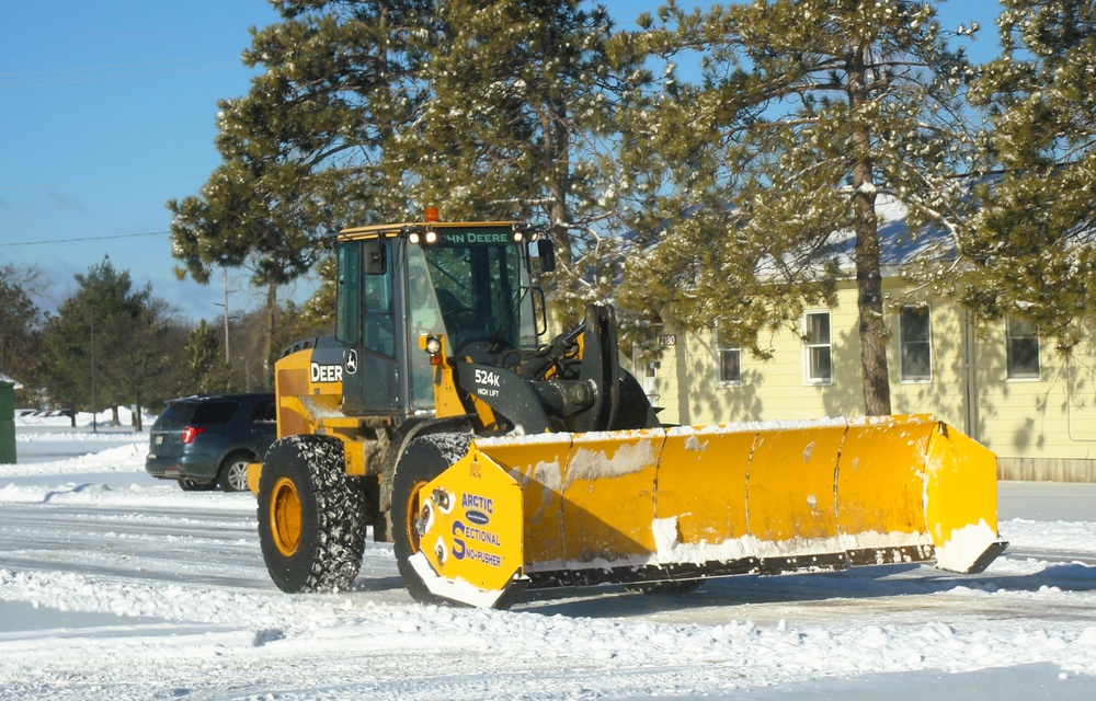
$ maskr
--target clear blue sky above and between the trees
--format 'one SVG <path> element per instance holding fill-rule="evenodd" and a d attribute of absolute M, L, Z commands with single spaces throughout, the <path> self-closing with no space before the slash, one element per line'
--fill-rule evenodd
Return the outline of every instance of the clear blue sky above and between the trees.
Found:
<path fill-rule="evenodd" d="M 606 2 L 623 28 L 660 4 Z M 983 60 L 996 50 L 996 14 L 993 0 L 940 12 L 946 27 L 982 24 L 973 56 Z M 165 203 L 196 193 L 217 166 L 217 100 L 247 93 L 248 28 L 275 21 L 267 0 L 3 0 L 0 265 L 37 264 L 53 283 L 44 308 L 110 255 L 184 319 L 222 313 L 219 277 L 175 278 Z M 259 303 L 242 273 L 230 273 L 229 290 L 233 310 Z"/>

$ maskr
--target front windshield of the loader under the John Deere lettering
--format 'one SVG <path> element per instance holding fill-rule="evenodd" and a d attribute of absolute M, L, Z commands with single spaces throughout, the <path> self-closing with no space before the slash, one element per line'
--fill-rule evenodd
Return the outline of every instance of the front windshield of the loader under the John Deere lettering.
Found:
<path fill-rule="evenodd" d="M 454 352 L 476 342 L 536 347 L 525 249 L 509 229 L 447 231 L 421 251 Z"/>

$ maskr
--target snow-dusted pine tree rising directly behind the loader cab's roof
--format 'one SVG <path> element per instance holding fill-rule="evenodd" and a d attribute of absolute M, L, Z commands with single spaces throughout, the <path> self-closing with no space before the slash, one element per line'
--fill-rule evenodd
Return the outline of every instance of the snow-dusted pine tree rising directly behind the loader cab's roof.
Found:
<path fill-rule="evenodd" d="M 579 4 L 438 2 L 422 71 L 432 96 L 406 137 L 425 202 L 455 217 L 548 222 L 564 263 L 604 187 L 597 138 L 619 88 L 608 15 Z"/>

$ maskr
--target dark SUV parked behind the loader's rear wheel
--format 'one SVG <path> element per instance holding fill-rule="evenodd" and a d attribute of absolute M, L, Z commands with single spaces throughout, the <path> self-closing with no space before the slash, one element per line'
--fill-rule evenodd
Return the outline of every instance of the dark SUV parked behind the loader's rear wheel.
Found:
<path fill-rule="evenodd" d="M 276 438 L 273 394 L 173 399 L 152 424 L 145 469 L 184 490 L 248 489 L 248 463 Z"/>

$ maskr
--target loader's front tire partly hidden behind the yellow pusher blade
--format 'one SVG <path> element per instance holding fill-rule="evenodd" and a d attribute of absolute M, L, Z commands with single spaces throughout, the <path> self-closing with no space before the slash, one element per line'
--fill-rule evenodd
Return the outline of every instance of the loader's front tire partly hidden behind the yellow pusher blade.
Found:
<path fill-rule="evenodd" d="M 415 572 L 410 559 L 419 552 L 415 521 L 422 509 L 420 490 L 468 453 L 472 437 L 468 434 L 431 434 L 411 441 L 396 463 L 392 476 L 392 551 L 396 565 L 411 598 L 423 604 L 448 604 L 435 596 Z"/>

